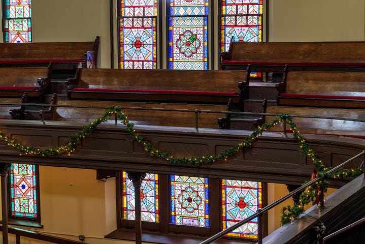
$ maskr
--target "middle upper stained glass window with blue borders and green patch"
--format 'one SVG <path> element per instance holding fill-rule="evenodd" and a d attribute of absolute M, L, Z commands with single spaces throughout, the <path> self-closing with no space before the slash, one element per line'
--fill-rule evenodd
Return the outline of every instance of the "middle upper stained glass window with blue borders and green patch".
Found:
<path fill-rule="evenodd" d="M 170 0 L 168 68 L 208 70 L 208 0 Z"/>

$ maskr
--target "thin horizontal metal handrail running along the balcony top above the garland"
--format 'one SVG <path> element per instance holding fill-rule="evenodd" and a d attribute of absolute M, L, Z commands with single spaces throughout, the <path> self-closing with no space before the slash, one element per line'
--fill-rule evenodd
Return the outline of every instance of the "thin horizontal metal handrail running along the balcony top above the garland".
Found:
<path fill-rule="evenodd" d="M 65 108 L 96 108 L 96 109 L 107 109 L 108 107 L 103 106 L 83 106 L 83 105 L 57 105 L 57 104 L 43 104 L 43 103 L 0 103 L 0 106 L 9 105 L 25 105 L 25 106 L 39 106 L 39 107 L 65 107 Z M 221 113 L 221 114 L 241 114 L 241 115 L 268 115 L 268 116 L 279 116 L 278 113 L 258 113 L 258 112 L 235 112 L 235 111 L 215 111 L 215 110 L 203 110 L 203 109 L 178 109 L 178 108 L 143 108 L 143 107 L 123 107 L 121 109 L 127 110 L 155 110 L 155 111 L 171 111 L 171 112 L 191 112 L 191 113 Z M 341 117 L 330 117 L 330 116 L 313 116 L 313 115 L 294 115 L 290 114 L 293 118 L 323 118 L 323 119 L 338 119 L 355 122 L 365 122 L 362 119 L 356 118 L 341 118 Z"/>

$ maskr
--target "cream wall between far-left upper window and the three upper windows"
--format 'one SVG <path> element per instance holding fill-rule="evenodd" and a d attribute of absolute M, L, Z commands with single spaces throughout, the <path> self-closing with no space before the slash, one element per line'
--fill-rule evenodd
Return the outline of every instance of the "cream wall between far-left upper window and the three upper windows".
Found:
<path fill-rule="evenodd" d="M 109 1 L 33 0 L 34 42 L 86 42 L 101 39 L 99 68 L 110 67 Z"/>

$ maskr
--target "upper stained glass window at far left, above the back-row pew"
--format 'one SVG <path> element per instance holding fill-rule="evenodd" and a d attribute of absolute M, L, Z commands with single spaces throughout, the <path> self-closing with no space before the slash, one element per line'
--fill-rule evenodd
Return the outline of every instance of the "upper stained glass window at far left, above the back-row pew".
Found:
<path fill-rule="evenodd" d="M 31 0 L 5 0 L 4 42 L 31 42 Z"/>

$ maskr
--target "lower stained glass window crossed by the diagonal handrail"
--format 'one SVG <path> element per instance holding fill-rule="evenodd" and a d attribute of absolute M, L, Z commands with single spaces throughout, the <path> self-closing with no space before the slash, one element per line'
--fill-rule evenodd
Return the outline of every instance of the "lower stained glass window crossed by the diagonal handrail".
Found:
<path fill-rule="evenodd" d="M 261 182 L 222 180 L 222 226 L 229 228 L 253 215 L 262 207 Z M 257 239 L 257 218 L 237 228 L 228 236 Z"/>

